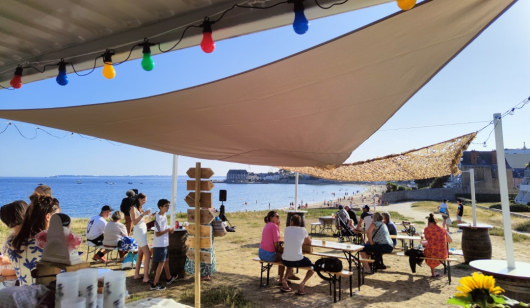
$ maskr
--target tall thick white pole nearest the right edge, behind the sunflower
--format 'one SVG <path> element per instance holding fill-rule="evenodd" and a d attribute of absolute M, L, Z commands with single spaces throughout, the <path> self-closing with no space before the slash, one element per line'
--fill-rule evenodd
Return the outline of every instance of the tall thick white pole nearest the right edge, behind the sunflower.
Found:
<path fill-rule="evenodd" d="M 506 243 L 506 261 L 508 268 L 515 268 L 513 257 L 512 223 L 510 220 L 510 201 L 508 199 L 508 179 L 506 178 L 506 160 L 504 158 L 504 140 L 502 137 L 502 118 L 500 113 L 493 115 L 495 126 L 495 144 L 497 145 L 497 170 L 499 172 L 499 190 L 501 193 L 502 222 L 504 224 L 504 242 Z"/>

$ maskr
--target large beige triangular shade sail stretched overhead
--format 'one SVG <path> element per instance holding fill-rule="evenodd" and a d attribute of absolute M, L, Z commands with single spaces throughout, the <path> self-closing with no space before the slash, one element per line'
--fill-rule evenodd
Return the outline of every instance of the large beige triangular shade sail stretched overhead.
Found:
<path fill-rule="evenodd" d="M 514 2 L 426 1 L 204 85 L 98 105 L 0 110 L 0 117 L 204 159 L 340 165 Z"/>

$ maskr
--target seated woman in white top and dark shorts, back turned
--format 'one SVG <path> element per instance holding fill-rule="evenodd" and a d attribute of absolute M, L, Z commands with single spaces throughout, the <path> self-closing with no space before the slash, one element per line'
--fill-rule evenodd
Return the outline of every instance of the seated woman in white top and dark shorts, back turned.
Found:
<path fill-rule="evenodd" d="M 302 254 L 302 245 L 311 244 L 311 237 L 307 234 L 307 230 L 302 225 L 302 218 L 300 215 L 291 216 L 290 226 L 285 228 L 284 235 L 284 248 L 282 254 L 282 262 L 285 267 L 287 267 L 287 272 L 285 273 L 281 283 L 283 292 L 292 291 L 291 287 L 287 282 L 286 277 L 290 277 L 293 273 L 293 267 L 307 267 L 312 266 L 311 261 L 304 257 Z M 297 294 L 305 294 L 305 283 L 313 275 L 313 270 L 308 270 L 304 279 L 300 283 Z"/>

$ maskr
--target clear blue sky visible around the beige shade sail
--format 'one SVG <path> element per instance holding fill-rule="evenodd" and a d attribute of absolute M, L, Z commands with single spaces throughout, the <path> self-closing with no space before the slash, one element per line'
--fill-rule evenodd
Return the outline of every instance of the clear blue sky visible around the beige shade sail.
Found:
<path fill-rule="evenodd" d="M 212 54 L 199 47 L 154 57 L 145 72 L 140 61 L 116 66 L 116 78 L 101 68 L 66 87 L 54 79 L 0 90 L 0 109 L 49 108 L 105 103 L 174 91 L 246 71 L 310 48 L 398 10 L 394 2 L 310 20 L 309 31 L 291 26 L 216 42 Z M 420 89 L 346 162 L 428 146 L 486 126 L 530 96 L 530 1 L 520 0 Z M 215 39 L 215 31 L 213 33 Z M 138 51 L 139 52 L 139 51 Z M 114 59 L 115 62 L 119 59 Z M 520 104 L 519 104 L 520 106 Z M 249 115 L 251 116 L 251 115 Z M 504 147 L 530 147 L 530 104 L 503 118 Z M 0 176 L 170 175 L 173 155 L 0 119 Z M 5 129 L 7 127 L 7 129 Z M 18 130 L 17 130 L 18 128 Z M 493 126 L 482 130 L 469 149 L 495 149 Z M 273 172 L 270 166 L 241 165 L 179 156 L 183 175 L 195 162 L 217 176 L 229 169 Z"/>

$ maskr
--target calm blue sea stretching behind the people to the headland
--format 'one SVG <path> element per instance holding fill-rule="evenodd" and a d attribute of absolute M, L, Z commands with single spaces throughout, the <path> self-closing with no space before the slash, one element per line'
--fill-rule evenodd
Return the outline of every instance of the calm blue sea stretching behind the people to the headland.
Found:
<path fill-rule="evenodd" d="M 184 212 L 188 206 L 184 197 L 187 176 L 179 176 L 177 184 L 177 211 Z M 222 180 L 224 177 L 213 177 Z M 0 177 L 0 205 L 14 200 L 26 200 L 39 184 L 49 185 L 53 195 L 59 199 L 62 211 L 72 217 L 87 218 L 99 213 L 105 204 L 119 209 L 125 191 L 137 188 L 147 195 L 144 208 L 157 209 L 159 199 L 171 199 L 170 176 L 141 176 L 141 177 Z M 294 184 L 225 184 L 215 183 L 212 190 L 214 207 L 219 208 L 219 190 L 227 190 L 227 201 L 224 202 L 227 212 L 254 211 L 269 208 L 288 207 L 294 202 Z M 352 195 L 356 191 L 364 191 L 365 187 L 356 184 L 300 184 L 298 201 L 307 203 L 324 202 L 336 197 L 344 196 L 347 192 Z"/>

